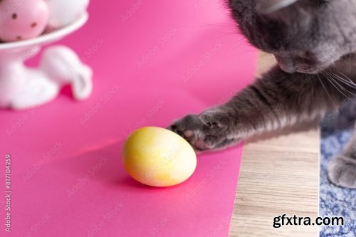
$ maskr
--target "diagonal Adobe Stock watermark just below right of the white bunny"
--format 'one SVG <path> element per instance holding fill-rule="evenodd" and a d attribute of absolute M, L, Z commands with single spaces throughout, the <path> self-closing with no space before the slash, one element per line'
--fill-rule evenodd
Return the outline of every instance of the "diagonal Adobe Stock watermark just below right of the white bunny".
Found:
<path fill-rule="evenodd" d="M 99 100 L 95 102 L 95 104 L 92 105 L 82 117 L 80 117 L 80 125 L 85 125 L 89 122 L 120 89 L 121 86 L 117 83 L 112 85 L 110 90 L 100 96 Z"/>

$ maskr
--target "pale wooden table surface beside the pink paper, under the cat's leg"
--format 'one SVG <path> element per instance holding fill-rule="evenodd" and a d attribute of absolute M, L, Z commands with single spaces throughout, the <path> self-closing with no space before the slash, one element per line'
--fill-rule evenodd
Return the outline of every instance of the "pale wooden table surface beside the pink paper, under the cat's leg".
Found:
<path fill-rule="evenodd" d="M 261 53 L 257 74 L 275 63 Z M 320 132 L 316 124 L 300 130 L 246 144 L 229 236 L 318 236 L 318 226 L 273 228 L 282 214 L 318 216 Z"/>

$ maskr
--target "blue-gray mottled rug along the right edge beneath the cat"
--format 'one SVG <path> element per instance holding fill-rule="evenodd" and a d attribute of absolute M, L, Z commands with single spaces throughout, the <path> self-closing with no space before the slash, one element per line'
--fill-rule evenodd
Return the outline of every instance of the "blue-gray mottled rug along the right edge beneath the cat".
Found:
<path fill-rule="evenodd" d="M 342 151 L 352 135 L 356 102 L 343 106 L 339 115 L 327 115 L 322 125 L 320 169 L 320 216 L 344 216 L 344 226 L 323 226 L 320 237 L 356 237 L 356 190 L 342 189 L 330 183 L 326 167 Z"/>

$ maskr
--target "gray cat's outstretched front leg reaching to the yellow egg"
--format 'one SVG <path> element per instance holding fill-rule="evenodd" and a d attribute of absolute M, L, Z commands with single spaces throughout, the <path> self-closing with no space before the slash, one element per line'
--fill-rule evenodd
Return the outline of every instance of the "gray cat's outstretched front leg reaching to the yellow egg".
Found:
<path fill-rule="evenodd" d="M 194 149 L 222 149 L 261 132 L 318 119 L 345 99 L 327 78 L 274 68 L 226 104 L 187 115 L 169 129 Z"/>

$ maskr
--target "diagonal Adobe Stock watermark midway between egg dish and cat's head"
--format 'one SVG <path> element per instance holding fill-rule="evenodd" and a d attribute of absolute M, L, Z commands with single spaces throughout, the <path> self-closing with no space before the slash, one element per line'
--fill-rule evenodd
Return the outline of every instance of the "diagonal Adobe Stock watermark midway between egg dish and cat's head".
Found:
<path fill-rule="evenodd" d="M 155 46 L 152 46 L 144 55 L 141 56 L 140 60 L 137 60 L 137 67 L 142 68 L 146 63 L 152 60 L 153 57 L 169 42 L 178 32 L 177 27 L 170 27 L 169 31 L 161 36 Z"/>

